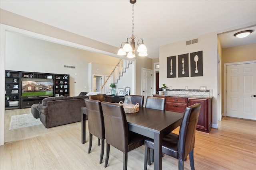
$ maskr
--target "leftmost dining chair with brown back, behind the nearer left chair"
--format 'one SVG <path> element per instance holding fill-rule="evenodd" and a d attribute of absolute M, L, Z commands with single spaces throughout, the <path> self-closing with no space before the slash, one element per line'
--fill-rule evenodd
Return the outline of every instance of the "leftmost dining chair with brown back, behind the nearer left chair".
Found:
<path fill-rule="evenodd" d="M 99 100 L 85 99 L 86 110 L 88 114 L 88 131 L 89 131 L 89 148 L 88 153 L 92 149 L 92 135 L 98 137 L 98 145 L 100 145 L 99 140 L 101 140 L 100 149 L 100 164 L 103 160 L 104 154 L 104 140 L 105 140 L 105 127 L 104 118 L 102 113 L 101 102 Z"/>

